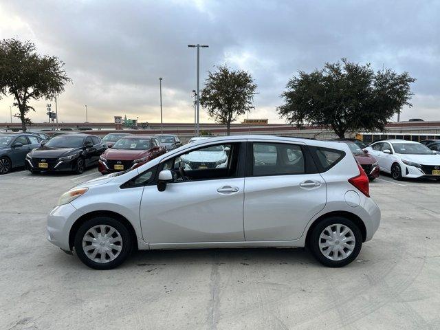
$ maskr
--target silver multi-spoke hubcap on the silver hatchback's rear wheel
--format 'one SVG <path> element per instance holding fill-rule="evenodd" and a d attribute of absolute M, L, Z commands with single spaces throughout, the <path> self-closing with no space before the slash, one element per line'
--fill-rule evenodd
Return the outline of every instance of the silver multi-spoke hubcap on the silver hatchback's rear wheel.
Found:
<path fill-rule="evenodd" d="M 355 245 L 355 234 L 347 225 L 340 223 L 329 225 L 319 236 L 321 253 L 333 261 L 346 259 L 353 252 Z"/>

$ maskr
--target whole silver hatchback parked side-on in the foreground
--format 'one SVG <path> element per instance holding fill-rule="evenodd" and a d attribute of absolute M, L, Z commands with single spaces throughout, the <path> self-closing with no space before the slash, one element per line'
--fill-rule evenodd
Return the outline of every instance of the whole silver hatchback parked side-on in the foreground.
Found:
<path fill-rule="evenodd" d="M 217 146 L 225 159 L 211 157 Z M 134 249 L 305 246 L 340 267 L 379 223 L 369 179 L 347 144 L 243 135 L 186 144 L 72 188 L 50 212 L 47 236 L 98 270 Z"/>

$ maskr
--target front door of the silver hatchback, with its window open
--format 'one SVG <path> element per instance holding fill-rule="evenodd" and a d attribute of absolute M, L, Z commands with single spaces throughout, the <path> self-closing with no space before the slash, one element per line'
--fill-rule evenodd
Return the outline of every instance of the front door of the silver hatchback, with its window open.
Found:
<path fill-rule="evenodd" d="M 243 188 L 244 188 L 244 142 L 223 142 L 217 146 L 231 148 L 227 166 L 212 163 L 210 146 L 202 146 L 159 164 L 157 172 L 175 168 L 181 159 L 200 156 L 195 166 L 186 164 L 188 179 L 177 177 L 168 183 L 164 191 L 157 186 L 144 187 L 140 206 L 142 234 L 148 243 L 194 243 L 244 241 L 243 234 Z M 183 158 L 182 158 L 183 157 Z M 190 157 L 188 157 L 190 158 Z M 189 166 L 192 165 L 192 169 Z"/>

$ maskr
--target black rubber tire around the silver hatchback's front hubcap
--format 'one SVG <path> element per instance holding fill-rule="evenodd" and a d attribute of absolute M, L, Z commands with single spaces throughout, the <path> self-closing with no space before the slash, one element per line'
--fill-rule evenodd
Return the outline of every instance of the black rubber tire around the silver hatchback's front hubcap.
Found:
<path fill-rule="evenodd" d="M 116 256 L 115 259 L 113 259 L 112 261 L 105 261 L 103 263 L 96 262 L 94 260 L 91 260 L 89 256 L 87 256 L 84 250 L 83 238 L 85 237 L 85 234 L 88 232 L 88 230 L 91 230 L 91 228 L 94 228 L 97 225 L 111 226 L 115 230 L 117 230 L 118 233 L 120 234 L 120 238 L 122 239 L 121 242 L 122 249 L 120 250 L 118 256 Z M 75 252 L 78 255 L 78 258 L 85 265 L 94 268 L 95 270 L 111 270 L 121 265 L 129 257 L 131 251 L 133 250 L 133 239 L 131 237 L 129 230 L 120 221 L 113 219 L 111 217 L 96 217 L 93 219 L 89 219 L 85 221 L 85 223 L 80 225 L 80 228 L 78 228 L 75 234 L 74 247 L 75 247 Z M 91 250 L 91 252 L 93 254 L 94 250 Z M 98 252 L 96 256 L 100 258 L 100 253 Z"/>

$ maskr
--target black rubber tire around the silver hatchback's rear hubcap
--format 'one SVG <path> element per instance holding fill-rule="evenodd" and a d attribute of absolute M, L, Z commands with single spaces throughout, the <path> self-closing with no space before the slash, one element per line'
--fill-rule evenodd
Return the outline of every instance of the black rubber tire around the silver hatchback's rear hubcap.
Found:
<path fill-rule="evenodd" d="M 320 250 L 320 241 L 322 241 L 322 239 L 320 239 L 321 233 L 325 231 L 327 227 L 336 224 L 340 224 L 348 227 L 351 230 L 351 232 L 353 232 L 353 236 L 355 240 L 353 251 L 345 259 L 342 260 L 331 260 L 327 256 L 325 256 L 323 252 L 321 252 Z M 322 265 L 326 265 L 328 267 L 343 267 L 351 263 L 358 256 L 360 249 L 362 248 L 362 234 L 358 226 L 353 221 L 343 217 L 329 217 L 327 219 L 320 221 L 320 223 L 318 223 L 312 229 L 309 239 L 309 248 L 311 250 L 311 253 L 320 263 L 322 263 Z M 348 252 L 348 249 L 345 252 Z M 330 252 L 330 253 L 334 254 L 334 252 Z M 340 254 L 340 252 L 336 252 L 336 253 L 337 256 Z"/>

